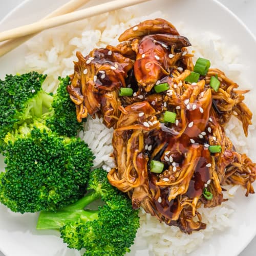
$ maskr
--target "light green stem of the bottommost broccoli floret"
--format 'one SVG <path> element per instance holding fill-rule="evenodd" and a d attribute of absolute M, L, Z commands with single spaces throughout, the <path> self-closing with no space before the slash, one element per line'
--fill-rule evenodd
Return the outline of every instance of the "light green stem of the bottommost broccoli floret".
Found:
<path fill-rule="evenodd" d="M 41 211 L 38 217 L 36 229 L 59 229 L 70 222 L 77 221 L 78 219 L 83 222 L 98 219 L 98 210 L 84 210 L 83 208 L 99 198 L 99 193 L 91 191 L 77 202 L 62 208 L 57 212 Z"/>

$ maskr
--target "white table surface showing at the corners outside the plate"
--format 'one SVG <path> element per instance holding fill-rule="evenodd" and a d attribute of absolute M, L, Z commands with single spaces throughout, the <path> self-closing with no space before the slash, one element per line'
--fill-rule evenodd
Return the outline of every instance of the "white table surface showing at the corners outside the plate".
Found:
<path fill-rule="evenodd" d="M 0 0 L 0 20 L 15 6 L 24 0 Z M 38 0 L 43 1 L 43 0 Z M 192 0 L 190 0 L 192 1 Z M 205 0 L 207 1 L 207 0 Z M 219 0 L 236 14 L 245 25 L 256 35 L 256 0 Z M 256 255 L 256 237 L 250 244 L 239 254 L 239 256 L 255 256 Z M 0 251 L 0 256 L 4 256 Z M 16 255 L 10 255 L 16 256 Z M 26 256 L 20 254 L 19 256 Z M 35 255 L 36 256 L 36 255 Z M 218 255 L 229 256 L 229 255 Z"/>

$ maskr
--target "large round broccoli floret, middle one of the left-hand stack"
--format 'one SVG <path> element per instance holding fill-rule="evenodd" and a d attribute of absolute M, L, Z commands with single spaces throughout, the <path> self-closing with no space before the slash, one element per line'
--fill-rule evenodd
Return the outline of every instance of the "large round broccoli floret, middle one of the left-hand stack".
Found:
<path fill-rule="evenodd" d="M 0 202 L 15 212 L 56 210 L 86 192 L 93 154 L 75 137 L 61 137 L 44 122 L 6 136 Z"/>

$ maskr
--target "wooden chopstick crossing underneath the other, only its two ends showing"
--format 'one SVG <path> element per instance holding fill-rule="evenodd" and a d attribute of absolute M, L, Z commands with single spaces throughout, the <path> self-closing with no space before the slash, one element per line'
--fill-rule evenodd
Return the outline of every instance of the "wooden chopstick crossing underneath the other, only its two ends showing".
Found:
<path fill-rule="evenodd" d="M 57 10 L 53 11 L 43 19 L 53 18 L 59 15 L 63 15 L 69 12 L 73 12 L 76 9 L 80 8 L 81 6 L 88 3 L 90 0 L 71 0 L 67 4 L 61 6 Z M 11 50 L 17 48 L 18 46 L 22 45 L 24 42 L 29 40 L 31 37 L 35 36 L 36 34 L 31 34 L 27 36 L 22 36 L 19 38 L 11 39 L 6 42 L 4 42 L 2 45 L 0 45 L 0 57 L 7 54 Z"/>

